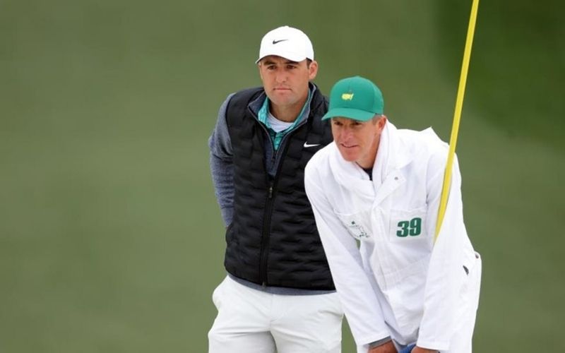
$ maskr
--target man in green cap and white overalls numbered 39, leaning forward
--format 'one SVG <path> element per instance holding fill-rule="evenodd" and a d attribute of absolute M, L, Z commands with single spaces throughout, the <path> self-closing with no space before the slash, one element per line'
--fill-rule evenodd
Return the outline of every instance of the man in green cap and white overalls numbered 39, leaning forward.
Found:
<path fill-rule="evenodd" d="M 432 128 L 396 128 L 383 105 L 366 78 L 335 83 L 322 118 L 333 143 L 304 174 L 357 351 L 471 352 L 481 259 L 463 222 L 458 162 L 434 242 L 448 145 Z"/>

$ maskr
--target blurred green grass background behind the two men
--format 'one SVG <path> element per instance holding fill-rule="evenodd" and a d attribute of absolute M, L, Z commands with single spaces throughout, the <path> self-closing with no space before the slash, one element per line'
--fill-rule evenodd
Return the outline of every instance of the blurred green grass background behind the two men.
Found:
<path fill-rule="evenodd" d="M 482 1 L 458 140 L 475 352 L 565 352 L 561 1 Z M 206 352 L 225 272 L 207 139 L 262 35 L 314 42 L 448 140 L 470 1 L 0 0 L 0 352 Z M 347 329 L 343 352 L 354 352 Z"/>

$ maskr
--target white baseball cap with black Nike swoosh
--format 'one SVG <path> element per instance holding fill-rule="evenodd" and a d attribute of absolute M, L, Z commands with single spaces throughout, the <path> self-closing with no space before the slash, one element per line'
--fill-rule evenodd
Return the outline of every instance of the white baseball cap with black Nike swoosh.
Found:
<path fill-rule="evenodd" d="M 263 37 L 259 59 L 255 64 L 269 55 L 281 56 L 292 61 L 314 60 L 314 48 L 302 30 L 285 25 L 271 30 Z"/>

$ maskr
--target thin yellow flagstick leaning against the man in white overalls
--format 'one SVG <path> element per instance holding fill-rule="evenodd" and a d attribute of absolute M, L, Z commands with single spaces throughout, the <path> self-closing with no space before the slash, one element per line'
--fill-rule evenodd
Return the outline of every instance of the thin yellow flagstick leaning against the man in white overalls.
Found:
<path fill-rule="evenodd" d="M 451 169 L 453 169 L 453 157 L 457 145 L 457 135 L 459 132 L 459 121 L 461 119 L 461 109 L 463 108 L 463 96 L 465 95 L 465 83 L 467 83 L 467 71 L 469 69 L 469 61 L 471 58 L 472 37 L 475 35 L 475 23 L 477 22 L 477 10 L 479 8 L 479 0 L 473 0 L 471 6 L 471 17 L 469 18 L 469 27 L 467 29 L 467 40 L 465 41 L 465 52 L 463 53 L 463 66 L 461 66 L 461 76 L 459 78 L 459 88 L 457 90 L 457 100 L 455 104 L 455 113 L 453 114 L 453 126 L 451 127 L 451 140 L 449 140 L 449 152 L 447 155 L 447 166 L 444 174 L 444 186 L 441 189 L 441 200 L 439 202 L 439 211 L 437 214 L 436 234 L 434 242 L 437 240 L 441 223 L 444 222 L 444 216 L 447 207 L 447 198 L 451 185 Z"/>

